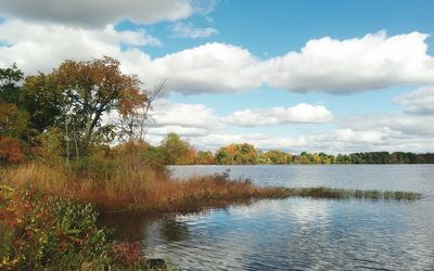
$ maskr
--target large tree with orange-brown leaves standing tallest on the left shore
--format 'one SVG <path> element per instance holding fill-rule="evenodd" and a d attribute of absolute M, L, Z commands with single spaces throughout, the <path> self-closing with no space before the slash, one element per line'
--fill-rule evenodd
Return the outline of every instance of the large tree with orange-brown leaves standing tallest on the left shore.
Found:
<path fill-rule="evenodd" d="M 102 122 L 102 116 L 116 109 L 131 112 L 146 100 L 135 75 L 120 72 L 120 63 L 108 56 L 91 61 L 65 61 L 54 70 L 58 88 L 67 99 L 68 108 L 80 131 L 80 145 L 87 150 L 92 141 L 112 140 L 114 127 Z"/>

